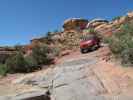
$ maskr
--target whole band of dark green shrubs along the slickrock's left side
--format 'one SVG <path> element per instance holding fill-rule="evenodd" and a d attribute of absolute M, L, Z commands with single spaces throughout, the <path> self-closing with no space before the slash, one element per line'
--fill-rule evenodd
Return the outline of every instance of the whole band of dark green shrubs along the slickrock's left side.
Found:
<path fill-rule="evenodd" d="M 41 68 L 41 65 L 51 64 L 53 58 L 59 55 L 57 48 L 49 48 L 47 45 L 37 45 L 32 54 L 25 56 L 21 51 L 9 57 L 5 65 L 1 65 L 0 73 L 27 73 Z M 8 69 L 8 70 L 7 70 Z"/>

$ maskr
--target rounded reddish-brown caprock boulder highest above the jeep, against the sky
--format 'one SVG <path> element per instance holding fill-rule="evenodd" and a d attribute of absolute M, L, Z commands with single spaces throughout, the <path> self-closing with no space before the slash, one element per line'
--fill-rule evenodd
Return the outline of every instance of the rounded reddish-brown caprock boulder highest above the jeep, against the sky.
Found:
<path fill-rule="evenodd" d="M 82 18 L 72 18 L 72 19 L 67 19 L 64 24 L 63 28 L 65 31 L 69 30 L 82 30 L 86 27 L 88 24 L 88 20 L 82 19 Z"/>

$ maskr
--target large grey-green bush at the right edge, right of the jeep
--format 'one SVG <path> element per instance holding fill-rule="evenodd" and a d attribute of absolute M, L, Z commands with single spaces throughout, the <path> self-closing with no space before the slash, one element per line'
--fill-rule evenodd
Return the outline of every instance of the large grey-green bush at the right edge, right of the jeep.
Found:
<path fill-rule="evenodd" d="M 112 53 L 121 58 L 122 64 L 133 65 L 133 24 L 126 23 L 121 31 L 106 39 Z"/>

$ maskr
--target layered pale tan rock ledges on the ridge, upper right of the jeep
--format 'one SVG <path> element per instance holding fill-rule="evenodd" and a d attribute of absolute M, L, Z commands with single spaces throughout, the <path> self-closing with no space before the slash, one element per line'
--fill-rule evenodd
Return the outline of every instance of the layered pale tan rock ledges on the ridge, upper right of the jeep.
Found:
<path fill-rule="evenodd" d="M 93 26 L 98 33 L 102 35 L 110 36 L 115 32 L 119 32 L 121 25 L 125 23 L 130 23 L 130 22 L 133 22 L 133 12 L 129 12 L 127 13 L 126 16 L 121 16 L 119 19 L 116 19 L 111 22 L 105 21 L 105 22 L 97 23 L 97 21 L 94 20 L 94 21 L 91 21 L 90 22 L 91 24 L 89 25 Z"/>

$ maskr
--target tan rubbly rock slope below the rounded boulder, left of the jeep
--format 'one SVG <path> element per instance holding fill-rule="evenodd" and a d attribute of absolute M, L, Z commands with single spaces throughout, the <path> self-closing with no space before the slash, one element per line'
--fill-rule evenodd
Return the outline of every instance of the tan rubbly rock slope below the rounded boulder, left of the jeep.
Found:
<path fill-rule="evenodd" d="M 71 31 L 63 31 L 59 32 L 58 34 L 55 34 L 51 36 L 51 42 L 48 43 L 49 40 L 45 38 L 38 38 L 31 41 L 31 44 L 29 48 L 29 51 L 31 48 L 33 48 L 36 44 L 47 44 L 49 46 L 56 46 L 60 50 L 68 50 L 68 49 L 74 49 L 78 47 L 78 44 L 80 42 L 80 36 L 82 35 L 82 32 L 78 32 L 75 30 Z M 26 49 L 28 50 L 28 49 Z"/>

